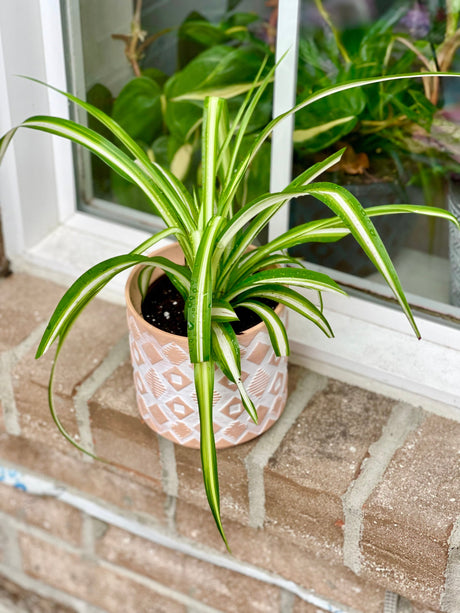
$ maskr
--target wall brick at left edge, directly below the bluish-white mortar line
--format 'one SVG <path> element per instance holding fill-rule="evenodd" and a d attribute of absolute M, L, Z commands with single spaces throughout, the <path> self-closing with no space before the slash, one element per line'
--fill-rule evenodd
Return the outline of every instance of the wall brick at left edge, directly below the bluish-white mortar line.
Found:
<path fill-rule="evenodd" d="M 69 543 L 81 544 L 80 511 L 59 500 L 0 485 L 0 510 Z"/>

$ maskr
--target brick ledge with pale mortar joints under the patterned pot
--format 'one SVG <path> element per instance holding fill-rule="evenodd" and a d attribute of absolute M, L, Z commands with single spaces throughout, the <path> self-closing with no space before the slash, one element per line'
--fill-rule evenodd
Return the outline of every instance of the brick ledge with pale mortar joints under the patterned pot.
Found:
<path fill-rule="evenodd" d="M 62 289 L 13 275 L 0 281 L 0 292 L 7 368 L 0 459 L 96 492 L 120 508 L 123 498 L 104 483 L 115 479 L 127 487 L 129 481 L 136 512 L 148 510 L 179 536 L 222 551 L 208 517 L 199 454 L 158 441 L 139 421 L 123 350 L 123 309 L 101 302 L 89 307 L 63 358 L 76 369 L 72 376 L 64 369 L 56 385 L 66 426 L 81 440 L 92 438 L 96 453 L 126 471 L 89 467 L 54 434 L 52 452 L 43 447 L 54 427 L 46 406 L 49 361 L 34 362 L 33 345 Z M 11 307 L 14 296 L 27 293 L 34 297 L 32 317 L 29 307 Z M 373 594 L 369 603 L 361 601 L 363 613 L 378 610 L 379 589 L 411 599 L 417 611 L 459 611 L 460 424 L 290 370 L 290 400 L 278 424 L 257 441 L 219 453 L 222 513 L 234 555 L 333 597 L 324 578 L 307 576 L 314 575 L 315 561 L 340 576 L 337 583 L 346 583 L 350 594 L 353 581 L 356 590 Z M 78 394 L 82 387 L 86 395 Z M 83 467 L 86 483 L 75 474 Z M 142 496 L 158 502 L 147 504 Z M 349 594 L 343 602 L 358 604 Z"/>

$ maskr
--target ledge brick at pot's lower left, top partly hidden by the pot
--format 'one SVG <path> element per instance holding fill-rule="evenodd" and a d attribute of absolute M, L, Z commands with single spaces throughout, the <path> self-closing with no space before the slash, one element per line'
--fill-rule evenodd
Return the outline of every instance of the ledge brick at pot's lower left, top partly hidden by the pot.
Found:
<path fill-rule="evenodd" d="M 161 487 L 158 436 L 139 417 L 130 363 L 115 370 L 89 409 L 96 454 L 156 479 Z"/>

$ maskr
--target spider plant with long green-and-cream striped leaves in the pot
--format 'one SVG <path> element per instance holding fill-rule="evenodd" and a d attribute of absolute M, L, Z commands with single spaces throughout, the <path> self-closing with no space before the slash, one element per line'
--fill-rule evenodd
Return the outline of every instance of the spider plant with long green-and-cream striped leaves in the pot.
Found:
<path fill-rule="evenodd" d="M 260 73 L 264 66 L 261 67 Z M 274 70 L 274 69 L 273 69 Z M 61 433 L 81 451 L 62 426 L 53 403 L 53 378 L 62 344 L 84 307 L 119 272 L 141 265 L 148 273 L 161 268 L 185 298 L 190 360 L 194 364 L 195 387 L 201 424 L 201 462 L 208 502 L 219 532 L 227 543 L 220 515 L 217 458 L 213 433 L 213 389 L 215 366 L 237 384 L 241 400 L 254 421 L 257 408 L 244 390 L 241 381 L 240 350 L 231 326 L 236 320 L 235 308 L 244 305 L 265 322 L 277 355 L 289 354 L 286 330 L 274 311 L 263 299 L 268 298 L 297 311 L 318 326 L 327 336 L 331 327 L 320 307 L 302 290 L 339 292 L 343 290 L 326 274 L 308 270 L 284 250 L 308 241 L 337 241 L 351 234 L 382 274 L 406 314 L 415 334 L 420 337 L 411 309 L 388 253 L 375 230 L 372 217 L 394 213 L 421 213 L 458 221 L 446 211 L 408 204 L 376 206 L 364 210 L 357 199 L 340 185 L 317 182 L 317 178 L 340 160 L 338 151 L 302 172 L 279 193 L 262 194 L 235 210 L 235 194 L 247 174 L 251 162 L 269 138 L 273 128 L 284 117 L 308 107 L 313 102 L 353 88 L 389 79 L 413 78 L 400 75 L 361 79 L 336 85 L 314 93 L 303 102 L 273 119 L 262 129 L 241 160 L 240 147 L 252 113 L 273 77 L 273 70 L 262 84 L 251 88 L 233 122 L 229 122 L 227 103 L 219 97 L 208 97 L 204 103 L 202 130 L 203 180 L 199 193 L 190 194 L 168 170 L 152 163 L 146 153 L 110 117 L 69 93 L 61 92 L 73 103 L 97 119 L 105 130 L 118 139 L 116 146 L 96 131 L 69 119 L 35 116 L 11 129 L 0 141 L 0 159 L 19 127 L 59 135 L 83 145 L 99 156 L 115 172 L 137 185 L 164 220 L 166 229 L 155 234 L 130 253 L 110 258 L 86 271 L 67 290 L 54 311 L 39 344 L 36 357 L 42 356 L 54 343 L 56 356 L 49 381 L 49 404 L 53 419 Z M 427 76 L 425 73 L 424 76 Z M 438 73 L 439 74 L 439 73 Z M 321 126 L 312 126 L 321 131 Z M 327 129 L 327 128 L 326 128 Z M 239 160 L 239 161 L 238 161 Z M 325 220 L 294 227 L 278 238 L 255 247 L 254 239 L 273 215 L 291 198 L 312 195 L 331 211 Z M 460 226 L 459 226 L 460 227 Z M 180 244 L 185 264 L 179 265 L 163 257 L 144 253 L 166 236 L 174 236 Z M 150 275 L 140 275 L 143 295 Z M 295 288 L 295 289 L 292 289 Z"/>

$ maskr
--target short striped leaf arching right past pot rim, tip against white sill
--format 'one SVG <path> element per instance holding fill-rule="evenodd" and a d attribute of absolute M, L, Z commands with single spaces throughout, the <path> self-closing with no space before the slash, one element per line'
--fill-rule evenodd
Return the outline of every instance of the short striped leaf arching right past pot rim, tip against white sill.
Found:
<path fill-rule="evenodd" d="M 283 285 L 259 285 L 257 287 L 247 289 L 237 297 L 235 300 L 235 306 L 237 306 L 240 301 L 246 302 L 249 299 L 257 300 L 258 298 L 268 298 L 269 300 L 280 302 L 293 311 L 296 311 L 306 319 L 309 319 L 316 326 L 318 326 L 318 328 L 320 328 L 320 330 L 324 332 L 326 336 L 334 336 L 331 326 L 322 312 L 310 300 L 308 300 L 308 298 L 299 292 L 290 289 L 289 287 L 284 287 Z"/>

